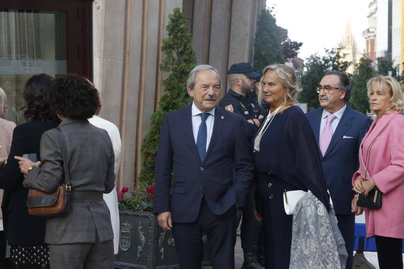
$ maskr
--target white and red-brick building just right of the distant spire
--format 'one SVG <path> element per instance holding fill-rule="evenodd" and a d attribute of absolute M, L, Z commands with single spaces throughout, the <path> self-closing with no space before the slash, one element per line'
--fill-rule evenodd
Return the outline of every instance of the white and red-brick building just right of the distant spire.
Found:
<path fill-rule="evenodd" d="M 362 32 L 365 38 L 365 57 L 376 61 L 376 26 L 377 26 L 377 1 L 372 0 L 369 4 L 369 28 Z"/>

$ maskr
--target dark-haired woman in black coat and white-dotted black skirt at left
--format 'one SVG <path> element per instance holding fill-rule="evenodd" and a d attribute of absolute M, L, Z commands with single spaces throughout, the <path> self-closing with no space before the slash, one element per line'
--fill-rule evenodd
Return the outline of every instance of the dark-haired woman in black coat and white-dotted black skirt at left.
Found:
<path fill-rule="evenodd" d="M 47 98 L 53 80 L 46 74 L 28 79 L 23 92 L 25 106 L 22 108 L 27 122 L 14 129 L 7 164 L 0 167 L 0 188 L 4 189 L 4 230 L 10 245 L 10 262 L 15 268 L 49 265 L 48 245 L 44 242 L 45 219 L 28 214 L 28 188 L 23 186 L 24 176 L 14 156 L 35 153 L 39 158 L 42 134 L 60 123 L 56 114 L 51 112 Z"/>

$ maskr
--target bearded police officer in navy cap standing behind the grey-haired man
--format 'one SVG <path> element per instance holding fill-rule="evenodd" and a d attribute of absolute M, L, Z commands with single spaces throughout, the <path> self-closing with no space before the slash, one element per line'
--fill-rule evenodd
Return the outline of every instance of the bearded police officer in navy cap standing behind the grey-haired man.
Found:
<path fill-rule="evenodd" d="M 254 72 L 250 63 L 238 63 L 230 67 L 228 80 L 230 89 L 227 94 L 220 100 L 219 106 L 229 112 L 236 113 L 245 118 L 248 123 L 246 128 L 253 133 L 260 126 L 260 121 L 255 117 L 254 111 L 251 109 L 250 102 L 246 98 L 251 91 L 251 86 L 260 75 Z M 248 130 L 246 130 L 248 133 Z M 241 247 L 244 252 L 244 263 L 242 268 L 245 269 L 262 269 L 263 265 L 257 259 L 257 245 L 261 230 L 259 223 L 252 212 L 254 203 L 254 186 L 252 185 L 243 207 L 243 219 L 241 223 Z M 239 215 L 241 218 L 241 214 Z"/>

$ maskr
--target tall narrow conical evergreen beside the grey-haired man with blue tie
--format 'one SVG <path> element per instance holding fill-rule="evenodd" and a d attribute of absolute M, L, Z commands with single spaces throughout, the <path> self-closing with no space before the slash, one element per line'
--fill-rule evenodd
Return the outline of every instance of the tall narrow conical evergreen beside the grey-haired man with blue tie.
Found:
<path fill-rule="evenodd" d="M 147 184 L 151 184 L 155 179 L 155 159 L 163 117 L 189 103 L 190 97 L 185 90 L 186 80 L 196 65 L 191 33 L 181 11 L 178 8 L 174 9 L 169 15 L 169 20 L 166 28 L 168 36 L 163 39 L 162 45 L 165 58 L 160 68 L 170 75 L 163 83 L 165 92 L 160 98 L 159 109 L 151 115 L 151 127 L 141 148 L 144 161 L 139 181 Z"/>

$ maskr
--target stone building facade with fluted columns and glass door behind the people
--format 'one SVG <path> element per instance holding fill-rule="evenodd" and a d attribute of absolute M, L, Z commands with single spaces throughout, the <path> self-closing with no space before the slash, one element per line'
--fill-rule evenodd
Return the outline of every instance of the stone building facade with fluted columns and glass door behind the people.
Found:
<path fill-rule="evenodd" d="M 192 31 L 197 64 L 222 76 L 252 61 L 256 21 L 264 0 L 3 0 L 0 2 L 0 87 L 9 114 L 19 108 L 26 80 L 38 73 L 78 73 L 100 92 L 100 116 L 118 126 L 122 159 L 118 187 L 136 185 L 141 143 L 163 92 L 162 39 L 168 15 L 183 11 Z M 2 39 L 3 38 L 3 39 Z M 185 89 L 184 89 L 185 90 Z"/>

